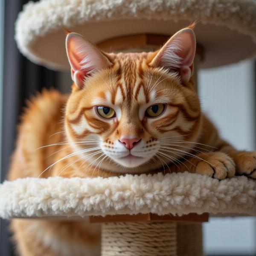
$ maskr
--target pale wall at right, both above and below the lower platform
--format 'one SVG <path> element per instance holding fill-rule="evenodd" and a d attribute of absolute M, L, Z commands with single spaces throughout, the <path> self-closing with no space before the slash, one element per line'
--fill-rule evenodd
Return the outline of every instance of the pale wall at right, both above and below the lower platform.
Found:
<path fill-rule="evenodd" d="M 202 108 L 222 137 L 236 148 L 255 150 L 253 61 L 199 72 Z M 204 224 L 206 255 L 256 255 L 256 218 L 210 218 Z"/>

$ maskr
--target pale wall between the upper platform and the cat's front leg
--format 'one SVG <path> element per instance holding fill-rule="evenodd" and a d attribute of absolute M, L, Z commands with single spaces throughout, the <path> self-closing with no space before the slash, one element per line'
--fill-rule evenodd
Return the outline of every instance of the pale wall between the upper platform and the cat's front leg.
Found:
<path fill-rule="evenodd" d="M 255 86 L 253 61 L 199 72 L 202 108 L 222 137 L 236 148 L 255 147 Z"/>

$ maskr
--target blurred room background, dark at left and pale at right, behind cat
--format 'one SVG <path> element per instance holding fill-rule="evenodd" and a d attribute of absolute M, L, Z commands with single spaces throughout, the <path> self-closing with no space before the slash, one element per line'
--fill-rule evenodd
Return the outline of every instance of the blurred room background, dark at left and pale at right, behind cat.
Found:
<path fill-rule="evenodd" d="M 0 1 L 1 181 L 6 179 L 17 123 L 30 98 L 43 87 L 70 90 L 70 74 L 32 64 L 17 50 L 14 23 L 26 0 Z M 236 148 L 256 150 L 256 65 L 252 60 L 198 74 L 202 108 Z M 210 218 L 204 224 L 207 256 L 256 256 L 256 218 Z M 0 221 L 0 255 L 14 255 L 8 222 Z"/>

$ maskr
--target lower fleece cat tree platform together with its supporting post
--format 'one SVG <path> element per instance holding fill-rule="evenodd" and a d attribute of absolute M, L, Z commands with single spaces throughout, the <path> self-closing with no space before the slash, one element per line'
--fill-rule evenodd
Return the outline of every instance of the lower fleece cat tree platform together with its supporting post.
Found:
<path fill-rule="evenodd" d="M 203 255 L 208 214 L 256 215 L 256 181 L 172 173 L 27 177 L 0 185 L 0 217 L 102 223 L 102 256 Z M 92 224 L 93 225 L 93 224 Z"/>

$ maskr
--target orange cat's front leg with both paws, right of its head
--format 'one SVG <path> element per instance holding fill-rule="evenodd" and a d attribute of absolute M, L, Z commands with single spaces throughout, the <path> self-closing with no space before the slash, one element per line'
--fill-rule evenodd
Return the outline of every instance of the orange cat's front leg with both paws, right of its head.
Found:
<path fill-rule="evenodd" d="M 202 143 L 200 147 L 206 151 L 195 154 L 195 157 L 185 161 L 188 169 L 191 169 L 190 172 L 206 174 L 218 179 L 224 178 L 225 172 L 227 177 L 236 174 L 256 178 L 256 151 L 238 151 L 233 148 L 219 137 L 217 129 L 206 116 L 203 116 L 203 131 L 199 143 Z"/>

